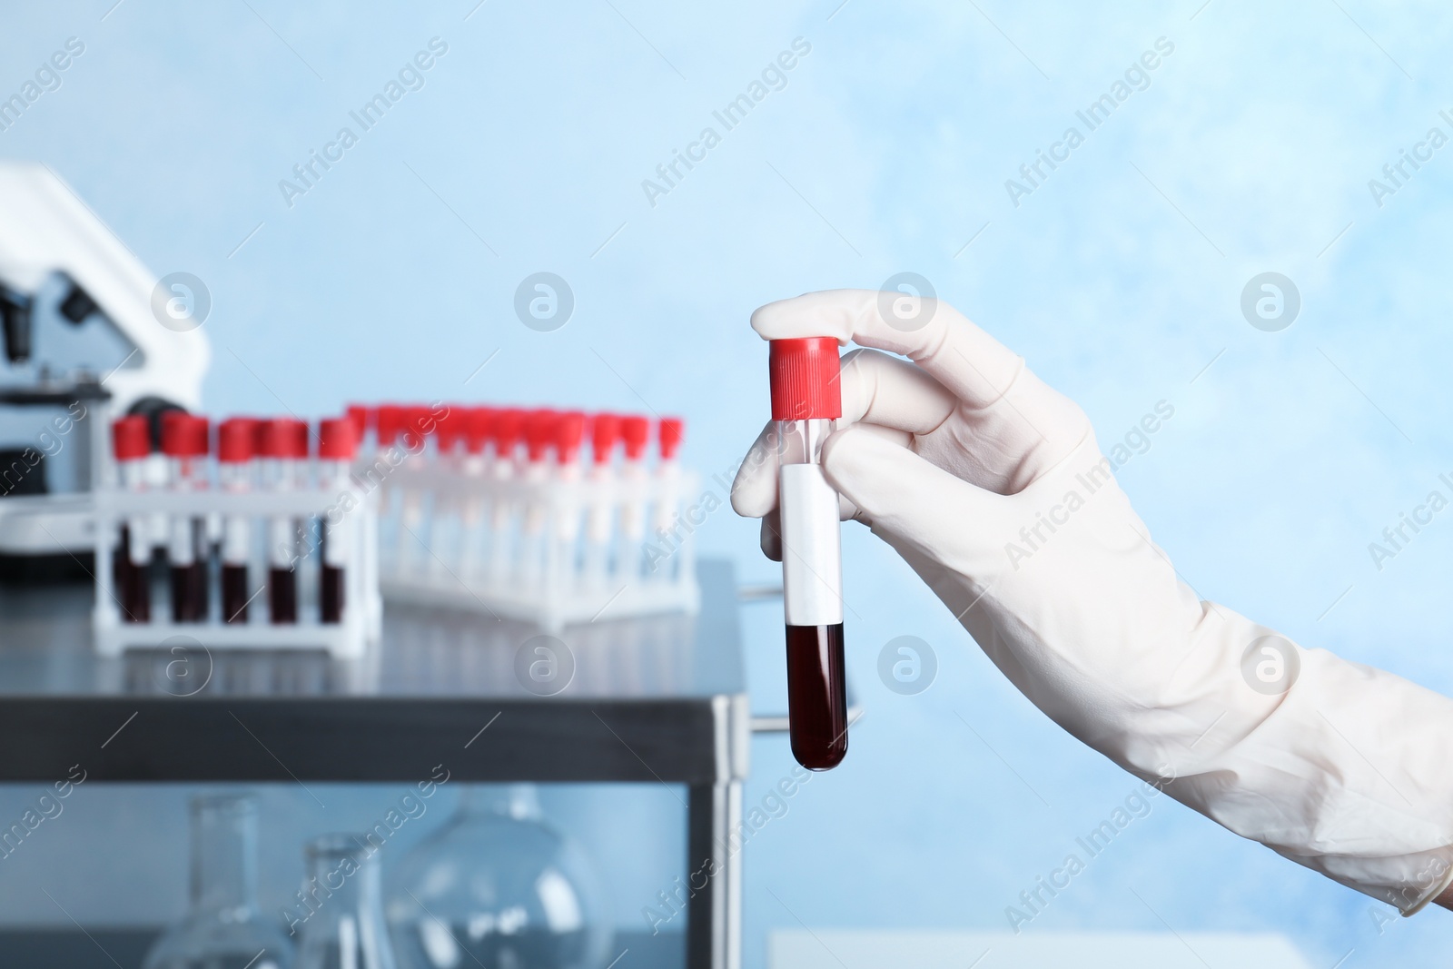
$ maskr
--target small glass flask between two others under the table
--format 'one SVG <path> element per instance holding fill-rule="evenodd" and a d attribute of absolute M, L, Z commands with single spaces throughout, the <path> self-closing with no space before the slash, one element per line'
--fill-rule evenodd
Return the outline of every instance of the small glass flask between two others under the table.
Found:
<path fill-rule="evenodd" d="M 296 969 L 395 969 L 384 924 L 378 848 L 352 834 L 325 834 L 304 847 L 307 877 L 295 907 Z"/>

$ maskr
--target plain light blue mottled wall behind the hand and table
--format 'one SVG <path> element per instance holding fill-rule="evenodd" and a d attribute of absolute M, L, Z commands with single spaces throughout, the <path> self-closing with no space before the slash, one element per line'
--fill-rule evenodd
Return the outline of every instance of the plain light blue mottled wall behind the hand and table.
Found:
<path fill-rule="evenodd" d="M 1453 147 L 1382 208 L 1367 189 L 1430 126 L 1453 134 L 1446 4 L 837 1 L 12 4 L 0 92 L 68 36 L 86 52 L 0 154 L 49 163 L 155 272 L 206 280 L 214 413 L 649 407 L 687 418 L 686 455 L 713 472 L 767 413 L 754 307 L 923 273 L 1103 443 L 1174 405 L 1119 477 L 1203 596 L 1453 690 L 1453 517 L 1380 572 L 1367 552 L 1453 471 Z M 432 36 L 449 52 L 426 87 L 289 209 L 279 179 Z M 641 180 L 798 36 L 812 52 L 786 89 L 652 208 Z M 1158 36 L 1175 49 L 1148 90 L 1014 208 L 1004 180 Z M 556 333 L 511 311 L 538 270 L 575 293 Z M 1284 333 L 1238 308 L 1266 270 L 1302 293 Z M 699 540 L 774 574 L 729 511 Z M 748 966 L 773 927 L 1003 928 L 1132 789 L 876 539 L 851 532 L 846 568 L 867 713 L 846 764 L 747 850 Z M 747 629 L 754 702 L 779 708 L 777 616 L 754 607 Z M 875 673 L 905 633 L 940 661 L 917 697 Z M 789 766 L 785 741 L 758 741 L 748 803 Z M 649 885 L 661 863 L 620 877 Z M 1446 914 L 1379 934 L 1370 912 L 1386 909 L 1162 799 L 1032 931 L 1273 930 L 1314 965 L 1446 953 Z"/>

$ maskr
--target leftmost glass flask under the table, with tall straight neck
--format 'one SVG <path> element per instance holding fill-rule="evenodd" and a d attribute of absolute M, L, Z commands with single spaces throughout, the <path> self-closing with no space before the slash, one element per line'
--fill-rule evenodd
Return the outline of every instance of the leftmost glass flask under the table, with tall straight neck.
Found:
<path fill-rule="evenodd" d="M 142 969 L 291 969 L 292 943 L 257 908 L 257 800 L 192 799 L 192 905 Z"/>

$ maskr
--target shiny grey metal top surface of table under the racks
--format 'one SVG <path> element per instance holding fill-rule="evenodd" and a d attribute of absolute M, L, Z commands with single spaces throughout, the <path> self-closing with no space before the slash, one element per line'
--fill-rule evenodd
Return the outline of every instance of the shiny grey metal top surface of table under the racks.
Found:
<path fill-rule="evenodd" d="M 208 651 L 174 639 L 99 657 L 90 645 L 89 584 L 0 585 L 0 697 L 661 700 L 742 693 L 731 564 L 703 561 L 697 575 L 702 609 L 695 616 L 587 623 L 558 636 L 484 613 L 391 601 L 381 644 L 359 660 L 320 651 Z"/>

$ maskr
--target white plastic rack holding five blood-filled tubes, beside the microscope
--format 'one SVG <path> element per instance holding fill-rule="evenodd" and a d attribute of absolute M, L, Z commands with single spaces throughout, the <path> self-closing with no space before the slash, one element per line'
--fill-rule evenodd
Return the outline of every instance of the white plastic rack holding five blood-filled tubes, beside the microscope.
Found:
<path fill-rule="evenodd" d="M 222 462 L 214 459 L 205 443 L 205 421 L 192 420 L 201 421 L 202 443 L 198 447 L 201 453 L 189 455 L 195 469 L 185 487 L 179 485 L 174 472 L 171 481 L 157 472 L 158 453 L 128 455 L 135 471 L 151 472 L 128 475 L 122 468 L 128 462 L 116 461 L 109 445 L 102 452 L 106 461 L 100 465 L 94 490 L 96 651 L 119 655 L 132 648 L 201 646 L 325 649 L 334 657 L 362 655 L 379 638 L 382 600 L 378 591 L 376 500 L 349 481 L 346 469 L 352 461 L 309 459 L 307 443 L 302 443 L 301 456 L 286 456 L 285 487 L 276 487 L 276 482 L 269 487 L 267 475 L 260 474 L 266 461 L 262 455 L 237 461 L 231 468 L 241 474 L 228 478 L 228 465 L 222 463 L 227 458 Z M 304 434 L 298 437 L 307 440 Z M 353 453 L 349 446 L 349 458 Z M 164 461 L 176 463 L 171 455 Z M 343 474 L 325 474 L 324 468 L 337 468 Z M 238 481 L 248 487 L 238 488 Z M 177 529 L 190 529 L 196 536 L 196 562 L 206 587 L 205 612 L 192 622 L 177 622 L 170 594 L 157 594 L 167 583 L 150 581 L 155 571 L 150 565 L 154 551 L 169 548 Z M 279 530 L 286 536 L 285 549 L 275 548 L 280 545 Z M 147 599 L 147 606 L 139 615 L 131 612 L 125 601 L 125 580 L 119 585 L 115 581 L 126 568 L 122 559 L 131 542 L 141 549 L 137 559 L 145 559 L 144 565 L 131 565 L 144 575 L 144 593 L 139 594 Z M 279 564 L 279 555 L 292 562 L 288 569 L 292 615 L 283 619 L 273 615 L 270 604 L 270 569 Z M 222 615 L 224 561 L 246 565 L 247 577 L 247 606 L 234 613 L 231 622 Z M 341 571 L 341 588 L 331 590 L 341 593 L 336 622 L 323 620 L 324 564 Z"/>

